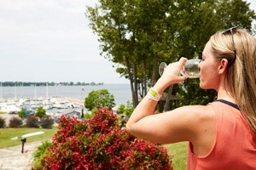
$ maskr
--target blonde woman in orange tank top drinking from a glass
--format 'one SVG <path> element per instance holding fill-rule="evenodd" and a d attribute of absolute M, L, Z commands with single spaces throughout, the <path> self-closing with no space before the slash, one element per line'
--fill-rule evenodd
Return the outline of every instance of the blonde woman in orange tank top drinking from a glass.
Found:
<path fill-rule="evenodd" d="M 189 141 L 187 169 L 256 169 L 256 40 L 247 31 L 218 31 L 202 53 L 200 88 L 217 101 L 154 114 L 160 94 L 186 79 L 187 59 L 168 65 L 133 111 L 126 129 L 159 144 Z"/>

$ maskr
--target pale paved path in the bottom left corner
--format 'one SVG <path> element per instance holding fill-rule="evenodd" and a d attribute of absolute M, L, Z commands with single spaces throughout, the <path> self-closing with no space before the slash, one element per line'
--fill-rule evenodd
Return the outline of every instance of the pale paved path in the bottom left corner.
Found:
<path fill-rule="evenodd" d="M 20 142 L 21 143 L 21 142 Z M 32 153 L 41 145 L 41 141 L 25 143 L 24 153 L 21 153 L 21 144 L 0 149 L 1 170 L 30 170 L 32 169 Z"/>

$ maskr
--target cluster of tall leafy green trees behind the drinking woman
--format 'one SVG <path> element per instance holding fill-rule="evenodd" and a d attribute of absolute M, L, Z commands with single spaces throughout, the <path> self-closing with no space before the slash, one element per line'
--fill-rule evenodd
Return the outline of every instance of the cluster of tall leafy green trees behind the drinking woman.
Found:
<path fill-rule="evenodd" d="M 102 56 L 130 80 L 134 107 L 159 78 L 161 61 L 199 57 L 215 31 L 231 26 L 250 30 L 256 19 L 242 0 L 99 0 L 86 12 L 90 28 L 99 37 Z"/>

